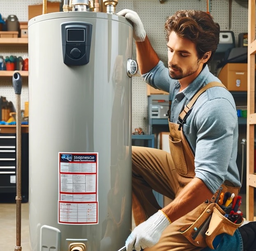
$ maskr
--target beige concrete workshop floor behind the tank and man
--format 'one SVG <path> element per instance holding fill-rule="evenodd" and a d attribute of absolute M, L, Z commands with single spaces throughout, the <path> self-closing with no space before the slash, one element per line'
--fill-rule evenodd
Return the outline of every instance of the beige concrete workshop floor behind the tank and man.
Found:
<path fill-rule="evenodd" d="M 1 195 L 0 195 L 1 196 Z M 246 216 L 246 195 L 243 198 L 240 209 Z M 255 201 L 256 209 L 256 201 Z M 254 210 L 256 212 L 256 210 Z M 134 222 L 132 223 L 134 228 Z M 16 203 L 15 195 L 12 201 L 3 200 L 0 197 L 0 251 L 13 251 L 16 246 Z M 29 249 L 29 217 L 28 203 L 21 204 L 21 247 L 22 251 L 30 251 Z"/>

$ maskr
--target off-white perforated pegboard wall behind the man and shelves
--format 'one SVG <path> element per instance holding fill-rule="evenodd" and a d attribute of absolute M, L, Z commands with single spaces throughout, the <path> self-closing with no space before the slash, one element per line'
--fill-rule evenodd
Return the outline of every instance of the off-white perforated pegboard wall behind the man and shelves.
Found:
<path fill-rule="evenodd" d="M 28 21 L 28 5 L 41 4 L 42 0 L 0 0 L 0 14 L 7 17 L 15 14 L 19 21 Z M 229 24 L 229 0 L 212 0 L 210 11 L 214 21 L 219 23 L 221 30 L 231 30 L 235 34 L 235 42 L 238 44 L 238 34 L 247 32 L 248 9 L 232 2 L 231 24 Z M 166 0 L 160 4 L 159 0 L 119 0 L 116 11 L 131 9 L 138 13 L 143 22 L 145 31 L 159 58 L 167 64 L 167 47 L 164 35 L 164 23 L 166 17 L 179 9 L 207 10 L 207 0 Z M 0 48 L 0 55 L 23 56 L 28 53 L 24 47 Z M 133 57 L 136 59 L 136 47 L 133 46 Z M 7 97 L 15 105 L 15 94 L 10 81 L 0 79 L 0 95 Z M 146 83 L 141 77 L 133 77 L 132 80 L 132 130 L 142 127 L 148 131 L 148 98 Z M 49 90 L 50 91 L 50 90 Z M 28 100 L 28 80 L 24 79 L 21 94 L 21 109 Z"/>

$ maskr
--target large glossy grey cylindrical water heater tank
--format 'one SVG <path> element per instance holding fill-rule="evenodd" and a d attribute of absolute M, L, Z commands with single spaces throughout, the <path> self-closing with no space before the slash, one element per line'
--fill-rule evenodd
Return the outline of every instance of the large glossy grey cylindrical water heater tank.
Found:
<path fill-rule="evenodd" d="M 32 251 L 125 245 L 132 32 L 125 18 L 106 13 L 50 13 L 28 23 Z"/>

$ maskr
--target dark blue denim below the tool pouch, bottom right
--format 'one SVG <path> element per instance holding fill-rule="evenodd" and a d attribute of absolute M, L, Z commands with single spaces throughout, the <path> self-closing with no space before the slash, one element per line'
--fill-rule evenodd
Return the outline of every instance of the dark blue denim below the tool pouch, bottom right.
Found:
<path fill-rule="evenodd" d="M 215 238 L 217 239 L 217 237 Z M 214 239 L 214 241 L 215 241 Z M 218 241 L 219 242 L 219 241 Z M 203 251 L 212 251 L 210 248 L 202 249 Z M 233 236 L 224 234 L 219 246 L 217 249 L 214 249 L 217 251 L 243 251 L 243 242 L 242 237 L 240 235 L 239 230 L 235 230 L 235 233 Z"/>

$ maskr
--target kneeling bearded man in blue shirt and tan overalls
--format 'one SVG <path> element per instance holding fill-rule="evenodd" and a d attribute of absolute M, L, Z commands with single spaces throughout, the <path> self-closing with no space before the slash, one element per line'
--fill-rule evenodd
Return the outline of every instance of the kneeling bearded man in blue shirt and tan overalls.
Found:
<path fill-rule="evenodd" d="M 249 223 L 237 230 L 241 215 L 240 219 L 239 213 L 230 215 L 231 207 L 222 202 L 228 193 L 238 198 L 241 184 L 235 102 L 207 66 L 219 43 L 219 25 L 202 11 L 178 11 L 169 17 L 166 68 L 138 14 L 125 9 L 118 15 L 134 24 L 143 78 L 169 92 L 171 104 L 171 154 L 147 147 L 132 149 L 132 207 L 137 227 L 126 241 L 127 251 L 256 250 L 256 225 Z M 152 189 L 173 201 L 159 207 Z M 223 216 L 225 212 L 239 220 L 230 221 Z"/>

